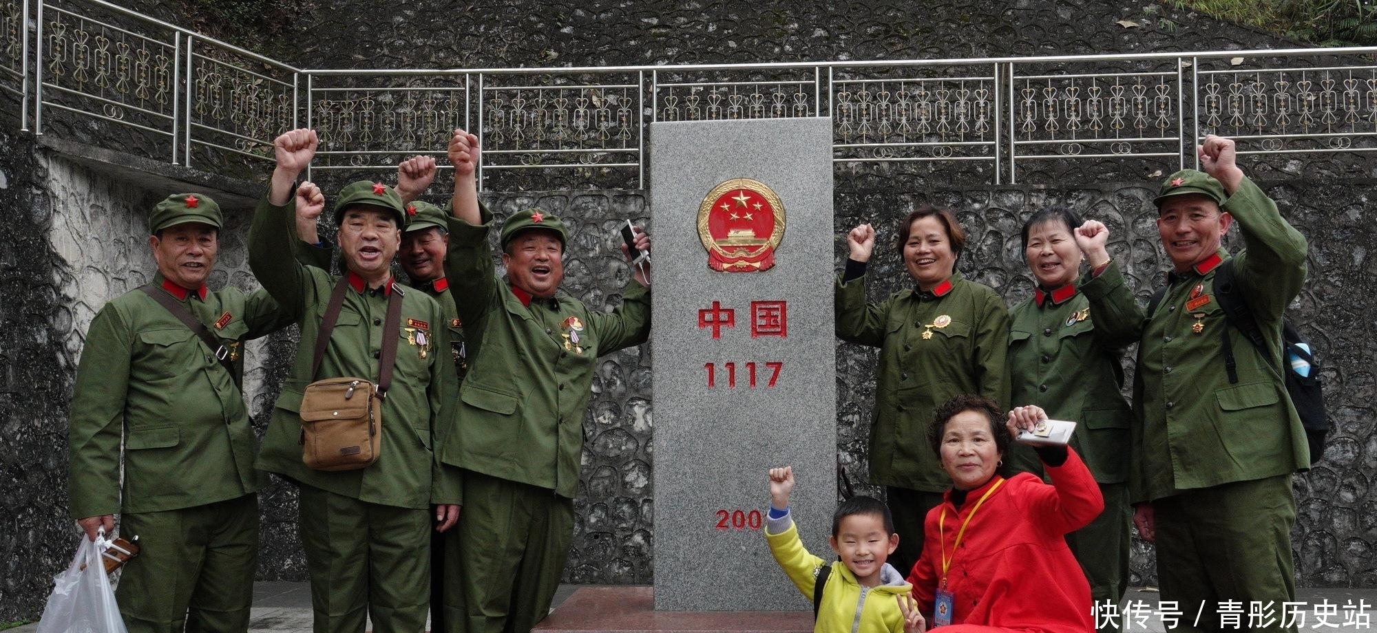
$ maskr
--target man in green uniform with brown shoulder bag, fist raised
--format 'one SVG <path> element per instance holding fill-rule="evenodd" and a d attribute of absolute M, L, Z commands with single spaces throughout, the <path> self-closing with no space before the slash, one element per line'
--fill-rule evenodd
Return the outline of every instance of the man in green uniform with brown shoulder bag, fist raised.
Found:
<path fill-rule="evenodd" d="M 454 372 L 443 311 L 434 299 L 391 277 L 406 212 L 381 183 L 357 182 L 335 202 L 348 288 L 319 373 L 311 362 L 321 319 L 340 282 L 293 256 L 296 176 L 310 164 L 317 136 L 293 129 L 274 140 L 277 168 L 249 231 L 249 266 L 302 328 L 292 377 L 282 385 L 259 454 L 259 468 L 300 489 L 299 533 L 311 579 L 317 633 L 425 627 L 430 604 L 431 516 L 443 531 L 459 516 L 459 472 L 435 457 L 453 421 Z M 377 380 L 388 301 L 401 296 L 391 389 L 381 400 L 377 462 L 355 471 L 315 471 L 302 461 L 302 394 L 314 380 Z M 435 505 L 434 515 L 430 508 Z"/>

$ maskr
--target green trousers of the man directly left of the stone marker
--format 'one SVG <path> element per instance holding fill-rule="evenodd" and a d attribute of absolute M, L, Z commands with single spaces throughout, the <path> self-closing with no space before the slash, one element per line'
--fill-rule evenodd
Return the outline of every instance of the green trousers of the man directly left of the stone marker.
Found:
<path fill-rule="evenodd" d="M 464 471 L 445 544 L 446 633 L 526 633 L 549 615 L 574 535 L 574 501 Z"/>

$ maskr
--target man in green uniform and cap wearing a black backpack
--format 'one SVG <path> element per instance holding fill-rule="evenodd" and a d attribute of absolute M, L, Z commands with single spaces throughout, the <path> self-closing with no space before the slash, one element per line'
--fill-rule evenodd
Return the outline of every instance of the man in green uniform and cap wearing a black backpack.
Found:
<path fill-rule="evenodd" d="M 1162 600 L 1220 630 L 1219 603 L 1245 612 L 1296 600 L 1290 473 L 1310 465 L 1296 409 L 1275 367 L 1282 312 L 1305 279 L 1305 238 L 1235 164 L 1234 142 L 1206 136 L 1205 172 L 1169 176 L 1157 197 L 1157 228 L 1172 260 L 1165 296 L 1139 344 L 1131 482 L 1139 534 L 1157 542 Z M 1226 323 L 1215 272 L 1230 259 L 1220 239 L 1237 222 L 1243 249 L 1232 256 L 1238 290 L 1268 343 L 1261 354 Z M 1224 345 L 1235 359 L 1230 380 Z M 1270 605 L 1270 607 L 1268 607 Z"/>

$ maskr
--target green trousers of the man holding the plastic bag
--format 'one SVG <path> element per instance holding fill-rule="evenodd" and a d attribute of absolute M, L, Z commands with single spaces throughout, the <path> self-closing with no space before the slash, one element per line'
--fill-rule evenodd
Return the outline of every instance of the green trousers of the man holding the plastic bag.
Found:
<path fill-rule="evenodd" d="M 120 516 L 139 556 L 120 571 L 116 603 L 129 633 L 244 633 L 257 568 L 257 495 Z"/>

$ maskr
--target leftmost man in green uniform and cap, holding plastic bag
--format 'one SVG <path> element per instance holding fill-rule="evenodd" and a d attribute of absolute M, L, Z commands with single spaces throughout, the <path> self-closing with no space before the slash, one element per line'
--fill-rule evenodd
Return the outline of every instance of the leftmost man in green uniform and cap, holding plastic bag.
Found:
<path fill-rule="evenodd" d="M 72 516 L 92 539 L 113 531 L 116 513 L 120 533 L 139 537 L 116 592 L 131 633 L 248 630 L 263 478 L 238 381 L 244 341 L 291 319 L 263 290 L 205 288 L 220 227 L 208 195 L 160 202 L 149 217 L 158 272 L 96 312 L 77 369 Z M 204 325 L 215 348 L 157 294 Z"/>

